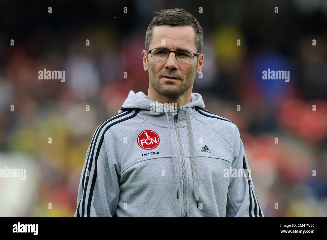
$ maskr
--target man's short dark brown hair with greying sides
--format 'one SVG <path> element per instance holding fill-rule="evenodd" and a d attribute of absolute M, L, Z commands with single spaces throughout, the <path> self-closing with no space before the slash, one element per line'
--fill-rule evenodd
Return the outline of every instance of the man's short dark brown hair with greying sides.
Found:
<path fill-rule="evenodd" d="M 155 11 L 156 12 L 156 11 Z M 145 49 L 149 49 L 150 41 L 152 40 L 152 31 L 154 26 L 168 24 L 172 26 L 192 26 L 195 29 L 195 43 L 197 53 L 201 53 L 203 46 L 203 30 L 198 20 L 185 9 L 174 8 L 164 9 L 156 12 L 157 15 L 152 18 L 146 29 Z M 150 50 L 150 49 L 149 49 Z"/>

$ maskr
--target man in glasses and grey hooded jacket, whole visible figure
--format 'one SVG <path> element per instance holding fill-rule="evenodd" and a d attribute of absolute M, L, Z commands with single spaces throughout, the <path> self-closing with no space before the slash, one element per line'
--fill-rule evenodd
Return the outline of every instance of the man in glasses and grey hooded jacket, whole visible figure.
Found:
<path fill-rule="evenodd" d="M 183 9 L 150 22 L 143 51 L 148 95 L 129 95 L 96 129 L 75 217 L 263 217 L 236 125 L 192 93 L 203 32 Z M 235 171 L 233 171 L 235 173 Z M 237 173 L 237 172 L 236 172 Z"/>

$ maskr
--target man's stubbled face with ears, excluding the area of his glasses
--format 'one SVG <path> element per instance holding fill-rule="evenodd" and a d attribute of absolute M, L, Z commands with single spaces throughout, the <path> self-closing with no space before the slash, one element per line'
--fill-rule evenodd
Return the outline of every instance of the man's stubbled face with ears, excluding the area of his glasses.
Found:
<path fill-rule="evenodd" d="M 162 45 L 163 42 L 164 45 Z M 152 40 L 149 44 L 149 50 L 153 48 L 166 48 L 171 51 L 185 49 L 197 53 L 194 28 L 192 26 L 156 26 L 153 28 Z M 201 60 L 203 60 L 203 54 L 199 56 L 199 61 Z M 193 87 L 195 73 L 201 72 L 202 63 L 203 61 L 198 64 L 196 57 L 191 62 L 180 62 L 174 53 L 170 53 L 166 60 L 155 60 L 143 51 L 144 70 L 149 71 L 149 83 L 152 88 L 167 96 L 180 96 Z M 168 79 L 164 76 L 178 79 Z"/>

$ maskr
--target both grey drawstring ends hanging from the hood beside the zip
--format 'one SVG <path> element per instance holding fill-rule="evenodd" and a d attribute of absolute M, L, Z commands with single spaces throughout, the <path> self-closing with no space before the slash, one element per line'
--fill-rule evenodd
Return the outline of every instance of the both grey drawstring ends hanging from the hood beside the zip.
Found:
<path fill-rule="evenodd" d="M 197 208 L 198 208 L 198 201 L 200 198 L 200 191 L 199 191 L 199 176 L 198 176 L 198 166 L 197 166 L 197 158 L 195 154 L 195 147 L 194 147 L 194 140 L 193 140 L 193 132 L 192 132 L 192 125 L 190 120 L 190 107 L 186 107 L 186 126 L 187 126 L 187 132 L 188 132 L 188 138 L 189 138 L 189 144 L 190 144 L 190 155 L 191 155 L 191 167 L 192 167 L 192 176 L 193 176 L 193 184 L 194 184 L 194 197 L 197 201 Z M 169 141 L 170 141 L 170 148 L 171 148 L 171 156 L 173 159 L 174 164 L 174 171 L 175 171 L 175 184 L 176 184 L 176 190 L 177 190 L 177 199 L 178 199 L 178 192 L 179 192 L 179 182 L 177 180 L 177 172 L 176 172 L 176 165 L 175 165 L 175 159 L 174 159 L 174 152 L 173 152 L 173 146 L 171 142 L 171 135 L 170 135 L 170 123 L 169 123 L 169 117 L 167 111 L 165 111 L 167 122 L 168 122 L 168 131 L 169 131 Z M 174 117 L 174 116 L 173 116 Z"/>

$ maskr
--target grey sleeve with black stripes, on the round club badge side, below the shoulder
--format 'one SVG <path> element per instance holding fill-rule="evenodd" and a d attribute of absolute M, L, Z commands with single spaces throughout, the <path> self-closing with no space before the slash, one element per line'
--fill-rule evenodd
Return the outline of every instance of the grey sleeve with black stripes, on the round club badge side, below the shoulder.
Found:
<path fill-rule="evenodd" d="M 112 217 L 119 199 L 120 171 L 105 128 L 98 128 L 86 152 L 74 217 Z M 103 136 L 103 137 L 102 137 Z M 107 136 L 108 137 L 108 136 Z M 107 144 L 106 144 L 107 143 Z"/>

